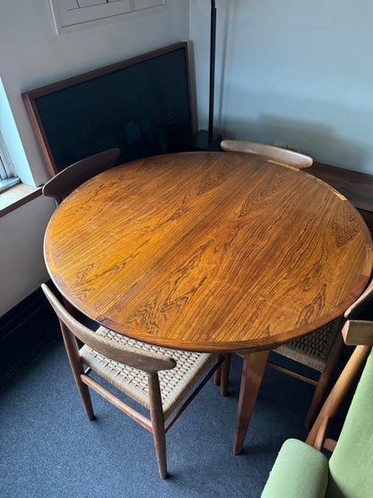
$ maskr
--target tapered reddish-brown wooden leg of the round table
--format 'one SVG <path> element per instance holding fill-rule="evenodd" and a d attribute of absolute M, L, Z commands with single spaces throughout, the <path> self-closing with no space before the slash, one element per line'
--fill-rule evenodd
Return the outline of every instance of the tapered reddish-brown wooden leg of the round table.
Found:
<path fill-rule="evenodd" d="M 239 455 L 245 441 L 248 424 L 256 405 L 257 393 L 265 373 L 269 351 L 241 354 L 242 366 L 241 386 L 239 389 L 239 409 L 237 413 L 236 432 L 234 434 L 233 453 Z"/>

